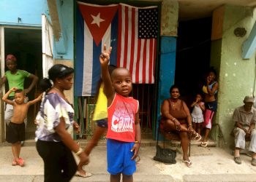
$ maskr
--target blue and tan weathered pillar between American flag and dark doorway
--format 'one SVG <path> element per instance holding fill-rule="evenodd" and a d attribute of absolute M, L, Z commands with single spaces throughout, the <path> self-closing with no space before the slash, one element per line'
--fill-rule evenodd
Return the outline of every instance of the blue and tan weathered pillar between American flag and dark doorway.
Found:
<path fill-rule="evenodd" d="M 170 86 L 174 84 L 176 66 L 176 36 L 178 28 L 178 1 L 162 1 L 161 44 L 159 45 L 159 73 L 157 95 L 157 119 L 160 117 L 161 104 L 170 97 Z M 157 123 L 158 124 L 158 123 Z M 157 127 L 158 128 L 158 125 Z M 157 132 L 157 130 L 156 130 Z M 155 133 L 155 138 L 157 134 Z"/>

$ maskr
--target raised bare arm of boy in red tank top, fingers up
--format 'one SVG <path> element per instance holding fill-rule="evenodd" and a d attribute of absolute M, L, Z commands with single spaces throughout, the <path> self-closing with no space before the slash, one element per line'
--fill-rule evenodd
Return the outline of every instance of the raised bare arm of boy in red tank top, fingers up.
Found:
<path fill-rule="evenodd" d="M 101 55 L 99 55 L 99 62 L 101 64 L 102 68 L 102 80 L 104 83 L 104 92 L 107 98 L 110 98 L 114 94 L 114 90 L 112 87 L 112 82 L 110 79 L 110 74 L 108 72 L 108 63 L 110 59 L 110 53 L 111 53 L 112 47 L 109 48 L 107 52 L 106 45 L 104 44 L 103 52 Z"/>

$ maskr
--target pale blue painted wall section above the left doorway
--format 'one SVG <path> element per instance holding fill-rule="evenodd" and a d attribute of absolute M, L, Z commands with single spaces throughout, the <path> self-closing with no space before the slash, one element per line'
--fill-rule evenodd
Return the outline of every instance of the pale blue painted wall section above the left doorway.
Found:
<path fill-rule="evenodd" d="M 0 1 L 0 25 L 41 27 L 42 13 L 48 14 L 46 0 Z M 18 17 L 21 18 L 19 23 Z"/>

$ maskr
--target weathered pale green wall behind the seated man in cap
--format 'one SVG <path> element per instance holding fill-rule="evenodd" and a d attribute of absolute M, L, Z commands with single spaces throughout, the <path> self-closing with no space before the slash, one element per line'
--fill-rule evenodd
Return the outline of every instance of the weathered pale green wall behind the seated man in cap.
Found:
<path fill-rule="evenodd" d="M 252 95 L 255 87 L 255 54 L 249 60 L 243 60 L 241 56 L 242 44 L 255 20 L 256 11 L 252 8 L 225 6 L 222 40 L 212 42 L 211 65 L 219 72 L 216 122 L 224 132 L 226 146 L 233 144 L 234 138 L 230 137 L 233 111 L 243 104 L 245 95 Z M 234 30 L 238 27 L 246 29 L 246 36 L 235 36 Z M 217 132 L 214 133 L 218 139 Z"/>

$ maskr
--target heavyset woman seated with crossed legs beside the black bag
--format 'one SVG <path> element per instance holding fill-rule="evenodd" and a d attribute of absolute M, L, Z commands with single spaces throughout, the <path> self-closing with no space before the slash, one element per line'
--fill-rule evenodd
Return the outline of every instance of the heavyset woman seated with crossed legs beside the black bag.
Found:
<path fill-rule="evenodd" d="M 176 132 L 181 139 L 181 148 L 183 150 L 183 162 L 187 167 L 192 166 L 187 152 L 189 149 L 189 137 L 200 141 L 201 136 L 193 130 L 192 119 L 187 104 L 179 99 L 180 93 L 178 87 L 170 87 L 170 98 L 164 100 L 161 107 L 162 123 L 165 131 Z"/>

